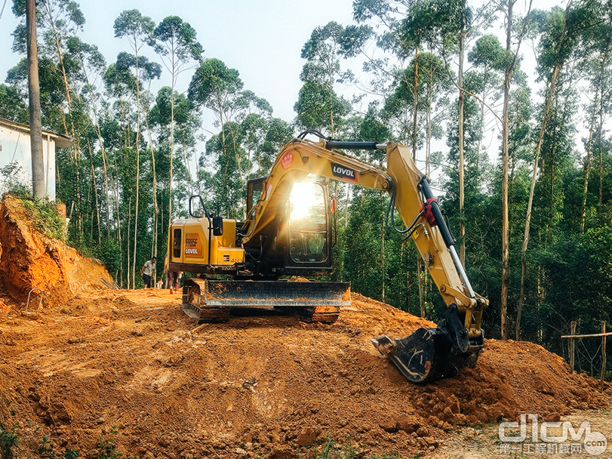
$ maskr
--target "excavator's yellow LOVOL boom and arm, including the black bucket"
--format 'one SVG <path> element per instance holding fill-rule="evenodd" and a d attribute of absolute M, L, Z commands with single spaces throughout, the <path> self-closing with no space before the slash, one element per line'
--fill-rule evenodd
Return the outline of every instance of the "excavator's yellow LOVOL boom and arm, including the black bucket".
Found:
<path fill-rule="evenodd" d="M 358 160 L 336 148 L 386 149 L 387 167 Z M 387 223 L 415 242 L 448 306 L 437 328 L 419 328 L 396 340 L 383 335 L 372 340 L 374 347 L 413 382 L 453 376 L 459 368 L 475 365 L 483 348 L 481 317 L 488 301 L 472 289 L 454 248 L 454 237 L 408 148 L 393 142 L 292 140 L 276 157 L 264 192 L 238 233 L 238 243 L 247 244 L 263 231 L 288 199 L 292 183 L 308 174 L 388 192 L 391 199 Z M 395 210 L 406 228 L 395 225 Z"/>

